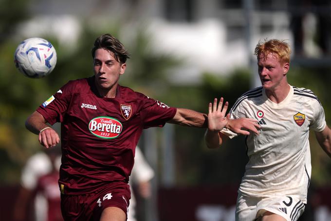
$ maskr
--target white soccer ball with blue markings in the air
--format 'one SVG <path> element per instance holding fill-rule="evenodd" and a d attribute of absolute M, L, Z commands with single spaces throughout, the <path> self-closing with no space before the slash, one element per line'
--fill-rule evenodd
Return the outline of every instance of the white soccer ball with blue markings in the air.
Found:
<path fill-rule="evenodd" d="M 53 45 L 41 38 L 23 40 L 15 51 L 15 65 L 24 76 L 42 78 L 50 74 L 56 64 Z"/>

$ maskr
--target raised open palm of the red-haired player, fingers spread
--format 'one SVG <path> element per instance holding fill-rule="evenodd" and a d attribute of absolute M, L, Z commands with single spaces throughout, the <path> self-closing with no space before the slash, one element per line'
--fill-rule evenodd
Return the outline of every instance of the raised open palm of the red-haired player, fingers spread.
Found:
<path fill-rule="evenodd" d="M 223 106 L 223 98 L 220 99 L 219 104 L 217 104 L 217 98 L 214 99 L 213 104 L 209 103 L 208 111 L 208 130 L 209 131 L 220 131 L 222 130 L 229 119 L 226 118 L 226 110 L 229 103 L 226 101 Z"/>

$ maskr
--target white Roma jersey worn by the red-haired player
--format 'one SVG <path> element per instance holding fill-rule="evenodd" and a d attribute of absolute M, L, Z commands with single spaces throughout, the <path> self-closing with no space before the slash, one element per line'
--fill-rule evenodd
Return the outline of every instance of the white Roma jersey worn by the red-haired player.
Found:
<path fill-rule="evenodd" d="M 274 103 L 262 87 L 243 94 L 234 104 L 231 118 L 253 118 L 260 134 L 246 137 L 249 161 L 239 193 L 249 197 L 294 196 L 307 202 L 311 178 L 310 128 L 326 126 L 323 107 L 311 90 L 291 86 L 285 100 Z M 222 133 L 236 136 L 229 130 Z"/>

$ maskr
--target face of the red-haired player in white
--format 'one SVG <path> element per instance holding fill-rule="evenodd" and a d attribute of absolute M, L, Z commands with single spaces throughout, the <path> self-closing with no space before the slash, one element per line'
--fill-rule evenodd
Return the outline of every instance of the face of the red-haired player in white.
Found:
<path fill-rule="evenodd" d="M 259 56 L 257 66 L 258 75 L 264 89 L 276 90 L 276 88 L 288 84 L 286 74 L 290 65 L 286 62 L 279 62 L 277 55 L 269 54 L 266 59 L 263 56 Z"/>

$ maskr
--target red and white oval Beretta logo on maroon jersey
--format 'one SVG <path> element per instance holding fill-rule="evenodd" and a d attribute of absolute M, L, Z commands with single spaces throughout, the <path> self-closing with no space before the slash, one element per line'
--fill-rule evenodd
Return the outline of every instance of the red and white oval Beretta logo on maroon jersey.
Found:
<path fill-rule="evenodd" d="M 122 132 L 123 125 L 114 118 L 100 116 L 93 118 L 89 123 L 90 132 L 103 139 L 117 138 Z"/>

